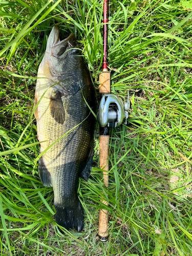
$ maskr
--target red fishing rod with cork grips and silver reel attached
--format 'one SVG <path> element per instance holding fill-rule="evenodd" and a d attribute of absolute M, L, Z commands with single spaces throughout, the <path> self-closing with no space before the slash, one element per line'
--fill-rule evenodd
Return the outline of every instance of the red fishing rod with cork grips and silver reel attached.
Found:
<path fill-rule="evenodd" d="M 122 99 L 116 95 L 110 94 L 110 72 L 108 70 L 108 16 L 109 3 L 108 0 L 103 2 L 103 64 L 102 72 L 99 75 L 99 93 L 100 104 L 97 112 L 97 120 L 100 125 L 99 131 L 99 149 L 100 149 L 100 168 L 103 170 L 103 183 L 106 188 L 109 186 L 109 144 L 110 135 L 109 128 L 119 126 L 123 119 L 128 118 L 130 101 L 123 103 Z M 108 201 L 101 200 L 102 204 L 108 206 Z M 99 210 L 99 231 L 98 236 L 101 242 L 108 241 L 108 210 Z"/>

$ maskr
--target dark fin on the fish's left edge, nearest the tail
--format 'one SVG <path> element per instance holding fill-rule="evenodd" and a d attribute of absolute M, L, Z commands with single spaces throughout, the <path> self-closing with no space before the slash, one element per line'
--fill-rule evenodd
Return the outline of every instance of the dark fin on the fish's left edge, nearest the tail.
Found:
<path fill-rule="evenodd" d="M 42 184 L 46 187 L 52 187 L 52 178 L 49 170 L 47 169 L 44 158 L 39 158 L 39 166 L 38 166 L 39 176 Z"/>

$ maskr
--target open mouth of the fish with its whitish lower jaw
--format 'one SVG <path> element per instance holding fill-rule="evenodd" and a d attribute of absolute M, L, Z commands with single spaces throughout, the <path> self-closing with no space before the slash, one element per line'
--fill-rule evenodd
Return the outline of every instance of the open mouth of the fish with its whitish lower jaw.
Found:
<path fill-rule="evenodd" d="M 75 37 L 75 35 L 72 33 L 66 39 L 63 39 L 60 41 L 59 27 L 54 26 L 51 30 L 49 37 L 48 37 L 46 52 L 51 53 L 51 50 L 53 47 L 65 44 L 65 42 L 71 40 L 73 37 Z"/>

